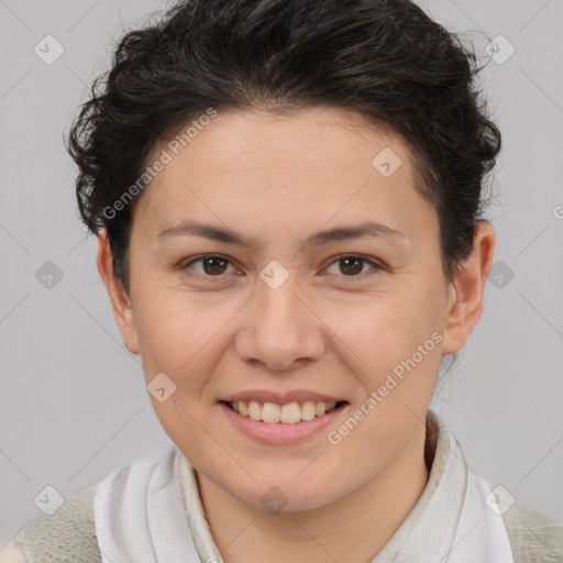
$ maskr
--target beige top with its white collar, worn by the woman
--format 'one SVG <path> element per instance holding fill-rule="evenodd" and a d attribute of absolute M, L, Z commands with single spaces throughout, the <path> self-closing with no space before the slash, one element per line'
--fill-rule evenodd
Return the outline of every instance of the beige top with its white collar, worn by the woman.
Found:
<path fill-rule="evenodd" d="M 468 517 L 465 517 L 464 526 L 466 526 L 467 533 L 464 532 L 463 537 L 460 537 L 460 530 L 463 528 L 460 527 L 460 522 L 446 520 L 442 528 L 434 526 L 437 522 L 431 521 L 431 518 L 439 518 L 442 509 L 449 506 L 452 495 L 459 496 L 462 493 L 461 482 L 457 483 L 455 478 L 451 478 L 452 475 L 460 476 L 462 474 L 452 472 L 452 467 L 460 470 L 465 466 L 467 483 L 483 484 L 484 481 L 467 466 L 459 444 L 438 417 L 430 411 L 427 419 L 426 457 L 430 474 L 419 500 L 372 563 L 427 561 L 423 559 L 427 556 L 424 550 L 431 552 L 432 545 L 438 550 L 443 550 L 440 551 L 439 558 L 433 558 L 435 563 L 440 561 L 440 558 L 442 558 L 442 563 L 449 563 L 462 553 L 460 549 L 465 548 L 465 538 L 471 538 L 476 530 L 482 529 L 483 532 L 479 533 L 483 533 L 483 538 L 486 539 L 487 533 L 490 536 L 489 530 L 495 527 L 497 532 L 500 530 L 495 533 L 500 549 L 503 539 L 509 540 L 514 563 L 563 562 L 563 523 L 519 503 L 514 503 L 509 497 L 499 496 L 498 492 L 501 488 L 498 487 L 490 487 L 489 499 L 487 500 L 484 496 L 482 503 L 475 505 Z M 133 478 L 135 475 L 139 478 Z M 135 485 L 137 488 L 139 483 L 145 483 L 146 486 L 139 490 L 156 493 L 151 493 L 147 498 L 143 498 L 139 490 L 135 492 L 133 483 L 137 483 Z M 117 514 L 112 512 L 108 516 L 106 522 L 102 522 L 104 506 L 110 506 L 111 503 L 103 504 L 103 492 L 107 496 L 106 499 L 113 501 L 113 510 L 117 509 Z M 117 503 L 118 499 L 122 499 L 123 503 Z M 133 517 L 132 509 L 129 511 L 125 509 L 130 503 L 133 503 L 135 512 L 139 512 L 135 517 Z M 457 508 L 452 505 L 450 510 L 452 514 L 454 510 L 461 514 L 460 507 L 461 505 Z M 121 508 L 123 509 L 121 510 Z M 145 518 L 145 512 L 148 512 L 148 520 L 135 520 L 136 517 Z M 111 521 L 111 518 L 114 520 Z M 166 518 L 170 518 L 170 522 L 174 525 L 166 525 Z M 475 518 L 475 525 L 473 525 L 472 518 Z M 176 527 L 177 521 L 180 522 L 178 527 Z M 483 526 L 485 521 L 488 523 Z M 164 522 L 161 531 L 156 529 L 157 523 L 155 522 Z M 143 526 L 147 526 L 146 530 L 148 530 L 145 536 L 153 534 L 154 537 L 144 538 Z M 122 528 L 121 532 L 115 530 L 120 527 Z M 139 534 L 141 541 L 146 540 L 148 545 L 164 545 L 164 548 L 154 549 L 170 549 L 169 538 L 175 538 L 172 543 L 177 542 L 178 552 L 183 554 L 180 559 L 183 562 L 199 560 L 203 563 L 216 563 L 222 561 L 205 516 L 197 485 L 197 474 L 188 460 L 174 446 L 158 455 L 151 456 L 151 459 L 137 460 L 97 485 L 73 495 L 54 515 L 36 518 L 0 551 L 0 563 L 121 561 L 114 560 L 112 558 L 114 554 L 106 550 L 111 549 L 112 542 L 114 545 L 119 545 L 118 551 L 123 548 L 120 542 L 126 543 L 130 538 L 129 533 L 122 533 L 128 527 L 132 533 Z M 175 530 L 172 530 L 174 527 L 176 527 Z M 434 537 L 430 538 L 428 534 L 432 534 L 432 530 Z M 111 533 L 112 537 L 107 545 L 102 545 L 102 540 L 108 541 L 108 538 L 104 537 L 107 533 Z M 468 545 L 468 549 L 479 549 L 479 542 L 476 543 L 477 545 Z M 492 545 L 492 549 L 498 548 L 498 545 L 495 547 L 495 542 Z M 141 548 L 141 545 L 139 547 Z M 189 549 L 192 549 L 192 552 L 188 554 Z M 141 549 L 140 552 L 145 553 Z M 467 553 L 470 554 L 464 555 L 465 559 L 462 558 L 461 561 L 465 563 L 483 561 L 476 559 L 482 555 L 476 554 L 475 551 Z M 103 559 L 103 554 L 107 559 Z M 154 561 L 158 561 L 158 563 L 168 561 L 166 556 L 156 558 L 157 555 Z M 131 559 L 124 559 L 124 561 L 131 563 Z M 133 558 L 134 563 L 140 561 L 140 559 Z M 152 560 L 147 559 L 146 561 Z M 178 561 L 174 561 L 174 563 L 178 563 Z"/>

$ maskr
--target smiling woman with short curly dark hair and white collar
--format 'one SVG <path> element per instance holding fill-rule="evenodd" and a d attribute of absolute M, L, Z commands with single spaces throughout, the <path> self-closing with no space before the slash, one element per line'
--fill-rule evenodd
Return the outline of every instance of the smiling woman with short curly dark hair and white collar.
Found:
<path fill-rule="evenodd" d="M 124 36 L 68 150 L 175 446 L 13 561 L 563 561 L 429 410 L 494 254 L 474 63 L 406 0 L 183 1 Z"/>

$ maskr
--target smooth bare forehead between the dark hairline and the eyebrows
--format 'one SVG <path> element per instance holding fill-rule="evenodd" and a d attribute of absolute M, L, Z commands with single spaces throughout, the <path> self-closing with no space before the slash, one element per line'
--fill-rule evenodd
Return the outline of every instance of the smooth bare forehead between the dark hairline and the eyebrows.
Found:
<path fill-rule="evenodd" d="M 336 213 L 350 223 L 371 209 L 397 228 L 407 208 L 426 203 L 400 135 L 351 110 L 219 111 L 178 154 L 168 142 L 153 158 L 162 151 L 172 159 L 135 210 L 153 235 L 187 213 L 230 224 L 267 214 L 288 225 Z"/>

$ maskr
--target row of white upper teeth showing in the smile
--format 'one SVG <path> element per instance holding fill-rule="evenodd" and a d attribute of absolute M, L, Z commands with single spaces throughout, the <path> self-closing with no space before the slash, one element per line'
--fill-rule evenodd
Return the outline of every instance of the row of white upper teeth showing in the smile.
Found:
<path fill-rule="evenodd" d="M 336 402 L 316 402 L 306 400 L 303 402 L 288 402 L 286 405 L 276 405 L 275 402 L 258 402 L 257 400 L 235 400 L 229 402 L 229 406 L 243 417 L 252 420 L 262 420 L 264 422 L 284 424 L 295 424 L 301 420 L 311 420 L 314 417 L 322 417 L 325 412 L 332 410 Z"/>

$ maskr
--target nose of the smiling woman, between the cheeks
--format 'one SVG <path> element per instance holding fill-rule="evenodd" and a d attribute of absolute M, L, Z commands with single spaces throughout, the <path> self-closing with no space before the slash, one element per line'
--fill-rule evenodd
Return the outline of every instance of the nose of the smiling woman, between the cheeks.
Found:
<path fill-rule="evenodd" d="M 324 350 L 323 323 L 307 303 L 297 275 L 276 289 L 261 280 L 256 291 L 236 336 L 239 357 L 273 371 L 318 360 Z"/>

